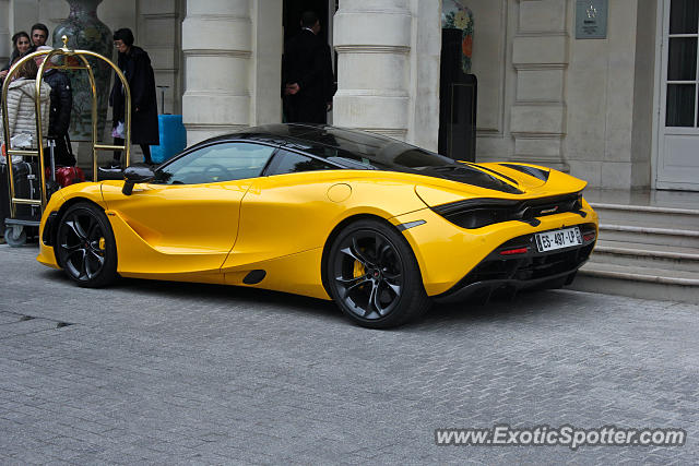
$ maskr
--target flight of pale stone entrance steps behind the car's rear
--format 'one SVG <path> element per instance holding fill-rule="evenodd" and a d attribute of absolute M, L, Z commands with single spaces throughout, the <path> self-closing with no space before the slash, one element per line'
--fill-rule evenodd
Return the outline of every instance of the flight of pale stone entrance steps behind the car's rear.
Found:
<path fill-rule="evenodd" d="M 571 288 L 699 303 L 699 196 L 596 195 L 591 205 L 600 215 L 597 244 Z"/>

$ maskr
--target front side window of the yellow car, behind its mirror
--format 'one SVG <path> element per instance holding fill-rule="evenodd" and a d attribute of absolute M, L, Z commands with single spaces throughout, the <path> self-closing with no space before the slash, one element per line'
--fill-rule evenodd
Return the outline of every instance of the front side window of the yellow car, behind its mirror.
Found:
<path fill-rule="evenodd" d="M 158 169 L 153 182 L 202 184 L 259 177 L 274 150 L 245 142 L 209 145 Z"/>

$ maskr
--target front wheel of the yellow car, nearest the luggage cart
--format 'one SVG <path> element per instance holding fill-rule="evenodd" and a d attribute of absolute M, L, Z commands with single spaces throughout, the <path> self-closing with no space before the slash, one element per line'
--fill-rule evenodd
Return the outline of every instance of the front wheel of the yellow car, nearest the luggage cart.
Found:
<path fill-rule="evenodd" d="M 105 213 L 85 202 L 61 217 L 56 235 L 56 259 L 79 286 L 97 288 L 117 277 L 117 247 Z"/>

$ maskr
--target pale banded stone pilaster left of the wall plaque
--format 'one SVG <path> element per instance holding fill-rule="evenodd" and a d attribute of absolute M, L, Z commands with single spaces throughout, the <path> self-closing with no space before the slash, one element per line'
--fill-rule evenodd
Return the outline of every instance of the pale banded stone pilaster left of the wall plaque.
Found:
<path fill-rule="evenodd" d="M 567 8 L 560 0 L 518 0 L 519 16 L 512 45 L 517 71 L 516 103 L 510 132 L 512 159 L 569 170 L 564 158 L 569 34 Z"/>

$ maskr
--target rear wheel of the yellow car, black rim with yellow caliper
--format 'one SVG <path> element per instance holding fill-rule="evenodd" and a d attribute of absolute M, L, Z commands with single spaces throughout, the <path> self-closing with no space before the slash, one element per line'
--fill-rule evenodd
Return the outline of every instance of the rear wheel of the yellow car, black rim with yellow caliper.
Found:
<path fill-rule="evenodd" d="M 325 264 L 330 296 L 355 323 L 389 328 L 429 308 L 413 251 L 394 228 L 363 219 L 333 241 Z"/>

